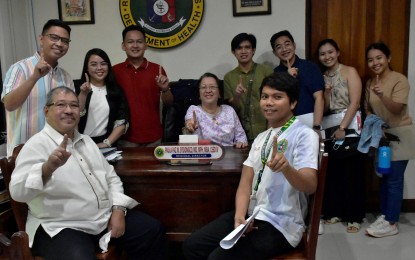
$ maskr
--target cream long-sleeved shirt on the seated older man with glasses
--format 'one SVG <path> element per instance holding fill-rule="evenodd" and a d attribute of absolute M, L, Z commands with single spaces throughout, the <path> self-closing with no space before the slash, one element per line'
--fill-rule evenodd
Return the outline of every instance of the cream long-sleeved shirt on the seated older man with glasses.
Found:
<path fill-rule="evenodd" d="M 51 236 L 64 228 L 99 234 L 108 225 L 112 205 L 138 204 L 124 195 L 120 178 L 89 136 L 75 133 L 68 140 L 68 161 L 43 184 L 42 165 L 63 136 L 46 123 L 27 141 L 16 159 L 10 194 L 29 205 L 26 232 L 30 246 L 39 225 Z"/>

